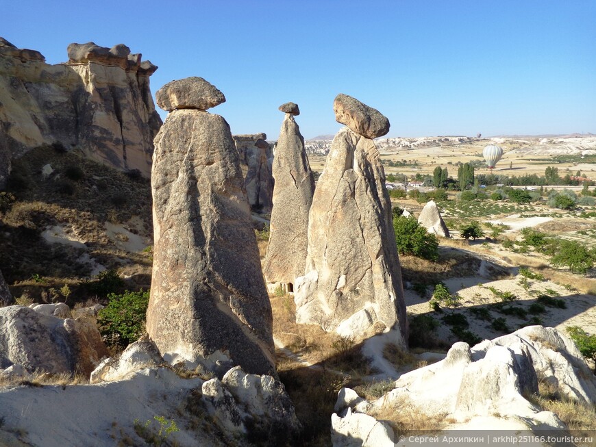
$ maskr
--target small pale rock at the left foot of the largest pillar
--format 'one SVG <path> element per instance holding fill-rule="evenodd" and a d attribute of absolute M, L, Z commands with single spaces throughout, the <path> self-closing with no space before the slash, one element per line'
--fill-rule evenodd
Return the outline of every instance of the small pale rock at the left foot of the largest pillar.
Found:
<path fill-rule="evenodd" d="M 164 359 L 150 340 L 138 340 L 129 344 L 117 357 L 103 360 L 89 378 L 90 383 L 113 382 L 125 379 L 143 368 L 156 368 Z"/>

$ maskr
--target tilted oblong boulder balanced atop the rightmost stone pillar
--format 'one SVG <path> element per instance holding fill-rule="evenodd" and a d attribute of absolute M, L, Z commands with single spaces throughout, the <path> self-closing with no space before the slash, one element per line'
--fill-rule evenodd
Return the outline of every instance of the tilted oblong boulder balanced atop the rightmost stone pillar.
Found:
<path fill-rule="evenodd" d="M 335 119 L 366 138 L 377 138 L 389 131 L 389 120 L 373 107 L 340 93 L 333 101 Z"/>

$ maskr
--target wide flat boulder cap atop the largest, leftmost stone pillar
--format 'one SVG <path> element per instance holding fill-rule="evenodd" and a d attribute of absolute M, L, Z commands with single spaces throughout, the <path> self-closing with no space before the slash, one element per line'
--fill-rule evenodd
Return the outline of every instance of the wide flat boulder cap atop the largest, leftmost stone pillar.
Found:
<path fill-rule="evenodd" d="M 225 103 L 223 93 L 202 77 L 187 77 L 171 81 L 156 93 L 156 101 L 163 109 L 207 110 Z"/>

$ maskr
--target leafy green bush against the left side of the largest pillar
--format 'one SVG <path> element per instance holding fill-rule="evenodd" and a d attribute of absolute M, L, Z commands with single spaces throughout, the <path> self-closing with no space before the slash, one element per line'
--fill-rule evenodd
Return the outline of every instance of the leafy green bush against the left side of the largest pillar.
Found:
<path fill-rule="evenodd" d="M 99 311 L 97 324 L 105 344 L 126 348 L 145 333 L 149 291 L 109 294 L 108 305 Z"/>

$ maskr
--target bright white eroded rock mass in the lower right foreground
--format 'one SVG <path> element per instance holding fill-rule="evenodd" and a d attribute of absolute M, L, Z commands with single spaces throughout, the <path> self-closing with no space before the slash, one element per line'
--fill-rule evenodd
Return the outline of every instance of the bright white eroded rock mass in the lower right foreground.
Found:
<path fill-rule="evenodd" d="M 561 399 L 588 406 L 596 401 L 596 377 L 575 344 L 556 329 L 530 326 L 473 348 L 458 342 L 442 361 L 402 374 L 377 400 L 342 389 L 332 417 L 334 446 L 347 445 L 348 436 L 366 439 L 362 435 L 375 422 L 384 424 L 375 421 L 384 409 L 440 417 L 444 430 L 567 429 L 555 413 L 527 399 L 538 394 L 538 378 Z M 368 416 L 367 426 L 355 415 Z M 389 434 L 377 445 L 391 439 Z"/>

